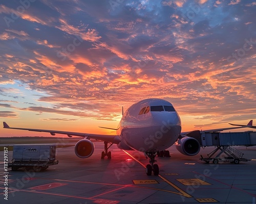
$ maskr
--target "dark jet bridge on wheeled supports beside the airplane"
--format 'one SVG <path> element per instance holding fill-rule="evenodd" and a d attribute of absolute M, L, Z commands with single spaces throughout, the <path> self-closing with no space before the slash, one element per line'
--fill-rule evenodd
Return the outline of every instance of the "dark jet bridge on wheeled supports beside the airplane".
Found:
<path fill-rule="evenodd" d="M 201 155 L 200 160 L 206 163 L 212 162 L 218 164 L 219 161 L 231 162 L 239 164 L 240 161 L 247 162 L 248 159 L 243 158 L 243 153 L 233 146 L 254 146 L 256 145 L 256 132 L 237 132 L 237 133 L 206 133 L 202 131 L 193 131 L 186 136 L 193 137 L 198 140 L 201 147 L 217 146 L 211 151 L 207 158 Z M 224 154 L 224 157 L 221 155 Z"/>

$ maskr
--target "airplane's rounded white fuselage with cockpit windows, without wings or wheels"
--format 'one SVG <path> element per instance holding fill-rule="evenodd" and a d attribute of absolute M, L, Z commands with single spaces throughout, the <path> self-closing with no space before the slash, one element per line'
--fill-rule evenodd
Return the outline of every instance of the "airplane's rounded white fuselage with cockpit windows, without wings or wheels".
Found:
<path fill-rule="evenodd" d="M 173 105 L 163 99 L 145 99 L 124 113 L 117 135 L 131 149 L 161 151 L 172 146 L 181 132 Z"/>

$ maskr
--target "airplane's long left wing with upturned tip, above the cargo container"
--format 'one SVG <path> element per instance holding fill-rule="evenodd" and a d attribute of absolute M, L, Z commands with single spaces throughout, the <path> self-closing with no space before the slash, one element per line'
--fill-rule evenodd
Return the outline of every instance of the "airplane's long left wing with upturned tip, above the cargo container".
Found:
<path fill-rule="evenodd" d="M 78 137 L 89 137 L 96 140 L 102 140 L 111 142 L 114 144 L 118 144 L 121 140 L 118 135 L 97 135 L 97 134 L 89 134 L 89 133 L 76 133 L 76 132 L 66 132 L 66 131 L 54 131 L 54 130 L 41 130 L 41 129 L 28 129 L 28 128 L 20 128 L 20 127 L 10 127 L 6 122 L 4 122 L 4 128 L 7 129 L 15 129 L 15 130 L 27 130 L 34 132 L 45 132 L 50 133 L 52 136 L 55 134 L 63 134 L 68 135 L 68 137 L 78 136 Z"/>

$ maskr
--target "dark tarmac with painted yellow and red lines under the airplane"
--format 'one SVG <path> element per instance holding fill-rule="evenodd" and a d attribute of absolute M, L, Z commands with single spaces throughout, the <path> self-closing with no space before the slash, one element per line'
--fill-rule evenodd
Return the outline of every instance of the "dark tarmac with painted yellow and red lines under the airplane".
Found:
<path fill-rule="evenodd" d="M 57 148 L 58 165 L 41 172 L 5 171 L 4 151 L 0 151 L 0 203 L 255 204 L 256 147 L 236 146 L 251 161 L 206 164 L 200 155 L 207 157 L 215 147 L 201 148 L 197 156 L 188 157 L 172 146 L 170 158 L 156 157 L 158 176 L 146 175 L 148 160 L 142 152 L 113 145 L 112 159 L 100 159 L 103 147 L 103 142 L 95 142 L 94 154 L 87 159 L 78 158 L 74 146 Z M 12 150 L 7 154 L 10 162 Z"/>

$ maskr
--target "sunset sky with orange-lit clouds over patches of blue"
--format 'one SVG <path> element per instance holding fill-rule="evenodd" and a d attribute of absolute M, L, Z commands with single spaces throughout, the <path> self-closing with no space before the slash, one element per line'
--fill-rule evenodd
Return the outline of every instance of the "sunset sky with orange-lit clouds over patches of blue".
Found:
<path fill-rule="evenodd" d="M 98 126 L 145 98 L 172 103 L 184 132 L 256 122 L 255 11 L 241 0 L 1 1 L 1 122 L 113 134 Z"/>

